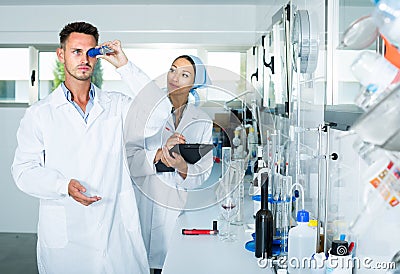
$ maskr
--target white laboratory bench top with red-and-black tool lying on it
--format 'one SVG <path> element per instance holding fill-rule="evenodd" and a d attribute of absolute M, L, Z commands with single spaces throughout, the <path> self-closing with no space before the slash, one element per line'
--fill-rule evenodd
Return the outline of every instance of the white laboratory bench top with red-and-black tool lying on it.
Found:
<path fill-rule="evenodd" d="M 248 185 L 245 185 L 247 188 Z M 260 268 L 254 252 L 245 249 L 246 242 L 252 240 L 247 224 L 254 224 L 253 202 L 245 191 L 244 224 L 231 225 L 236 234 L 235 242 L 224 242 L 218 235 L 182 235 L 182 229 L 212 229 L 214 220 L 220 225 L 219 203 L 215 202 L 215 186 L 189 194 L 189 202 L 209 200 L 210 206 L 182 213 L 176 223 L 170 248 L 163 267 L 163 274 L 217 274 L 217 273 L 275 273 L 271 268 Z M 254 228 L 253 228 L 254 229 Z M 254 231 L 254 230 L 253 230 Z"/>

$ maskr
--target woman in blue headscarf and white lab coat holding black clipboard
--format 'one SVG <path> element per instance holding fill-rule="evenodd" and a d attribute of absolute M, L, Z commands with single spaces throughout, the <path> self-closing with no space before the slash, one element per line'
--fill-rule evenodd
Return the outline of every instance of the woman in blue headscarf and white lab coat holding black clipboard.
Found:
<path fill-rule="evenodd" d="M 162 269 L 176 219 L 185 206 L 190 189 L 200 187 L 213 165 L 212 152 L 195 164 L 168 150 L 175 144 L 212 143 L 212 120 L 198 106 L 197 88 L 210 84 L 199 58 L 179 56 L 167 74 L 168 97 L 173 105 L 171 116 L 160 136 L 146 139 L 142 146 L 127 147 L 131 175 L 137 186 L 137 202 L 142 234 L 150 268 Z M 189 94 L 194 94 L 194 103 Z M 173 172 L 157 172 L 164 163 Z M 176 232 L 179 233 L 179 232 Z"/>

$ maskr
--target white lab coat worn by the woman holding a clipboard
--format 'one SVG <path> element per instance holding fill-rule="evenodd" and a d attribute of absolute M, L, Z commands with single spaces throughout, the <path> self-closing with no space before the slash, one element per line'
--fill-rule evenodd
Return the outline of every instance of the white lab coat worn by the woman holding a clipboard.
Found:
<path fill-rule="evenodd" d="M 193 104 L 187 105 L 178 128 L 175 129 L 172 116 L 165 127 L 183 134 L 187 143 L 212 143 L 212 120 Z M 188 191 L 201 186 L 213 165 L 210 151 L 197 163 L 188 164 L 185 180 L 178 172 L 157 173 L 154 156 L 172 134 L 164 129 L 161 136 L 147 138 L 142 145 L 127 144 L 128 163 L 136 184 L 135 194 L 150 268 L 163 267 L 169 240 L 185 207 Z"/>

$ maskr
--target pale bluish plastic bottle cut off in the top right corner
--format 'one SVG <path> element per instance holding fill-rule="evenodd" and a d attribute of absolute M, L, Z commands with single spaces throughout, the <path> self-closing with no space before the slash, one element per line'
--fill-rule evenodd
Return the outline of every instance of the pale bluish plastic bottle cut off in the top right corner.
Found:
<path fill-rule="evenodd" d="M 400 46 L 400 1 L 374 0 L 372 17 L 382 33 L 396 47 Z"/>

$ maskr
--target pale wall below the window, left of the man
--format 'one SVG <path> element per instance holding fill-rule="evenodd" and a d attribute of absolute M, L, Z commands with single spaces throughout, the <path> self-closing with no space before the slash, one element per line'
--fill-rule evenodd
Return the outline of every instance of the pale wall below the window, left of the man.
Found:
<path fill-rule="evenodd" d="M 39 202 L 21 192 L 11 176 L 16 132 L 25 108 L 0 107 L 0 232 L 36 232 Z"/>

